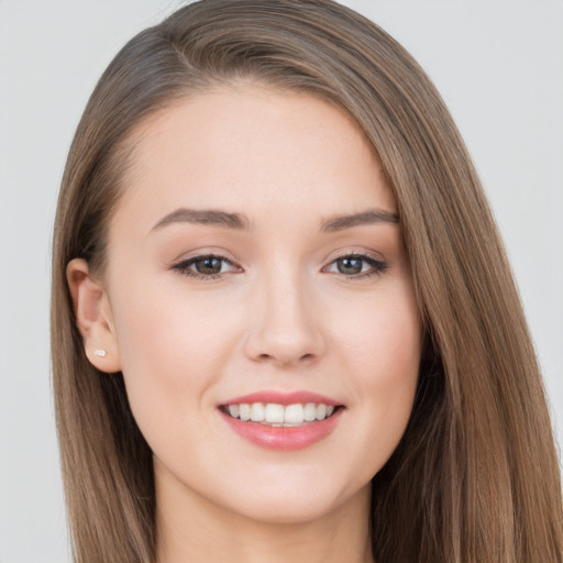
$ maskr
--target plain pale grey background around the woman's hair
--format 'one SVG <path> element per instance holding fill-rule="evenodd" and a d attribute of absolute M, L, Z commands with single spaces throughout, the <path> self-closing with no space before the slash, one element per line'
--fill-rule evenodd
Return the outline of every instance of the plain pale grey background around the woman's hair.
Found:
<path fill-rule="evenodd" d="M 49 382 L 49 245 L 97 78 L 174 0 L 0 0 L 0 562 L 67 563 Z M 563 437 L 563 2 L 349 0 L 422 64 L 468 145 Z"/>

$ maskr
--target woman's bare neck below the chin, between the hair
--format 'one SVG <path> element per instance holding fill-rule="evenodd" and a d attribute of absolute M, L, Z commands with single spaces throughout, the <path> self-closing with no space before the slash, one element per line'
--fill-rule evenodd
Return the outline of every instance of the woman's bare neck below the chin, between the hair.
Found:
<path fill-rule="evenodd" d="M 262 522 L 157 484 L 158 563 L 373 563 L 369 488 L 305 522 Z M 181 503 L 178 500 L 181 498 Z"/>

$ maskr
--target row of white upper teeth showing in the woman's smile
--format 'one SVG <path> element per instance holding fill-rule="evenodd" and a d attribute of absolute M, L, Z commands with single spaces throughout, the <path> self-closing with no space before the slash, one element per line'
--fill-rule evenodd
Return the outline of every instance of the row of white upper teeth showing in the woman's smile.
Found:
<path fill-rule="evenodd" d="M 295 405 L 278 405 L 275 402 L 242 402 L 240 405 L 228 405 L 227 411 L 233 418 L 243 421 L 263 422 L 265 424 L 296 426 L 314 420 L 324 420 L 334 412 L 332 405 L 322 402 L 306 402 Z"/>

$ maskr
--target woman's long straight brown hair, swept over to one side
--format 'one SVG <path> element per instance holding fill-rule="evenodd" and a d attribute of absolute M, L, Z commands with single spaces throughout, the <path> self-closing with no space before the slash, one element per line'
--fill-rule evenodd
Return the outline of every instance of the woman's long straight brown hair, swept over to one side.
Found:
<path fill-rule="evenodd" d="M 240 78 L 343 108 L 398 203 L 426 327 L 407 431 L 373 478 L 378 562 L 562 562 L 560 471 L 544 391 L 495 222 L 452 119 L 377 25 L 330 0 L 203 0 L 131 40 L 100 78 L 65 169 L 52 354 L 75 560 L 154 562 L 152 454 L 121 374 L 86 358 L 65 268 L 102 272 L 128 144 L 147 115 Z"/>

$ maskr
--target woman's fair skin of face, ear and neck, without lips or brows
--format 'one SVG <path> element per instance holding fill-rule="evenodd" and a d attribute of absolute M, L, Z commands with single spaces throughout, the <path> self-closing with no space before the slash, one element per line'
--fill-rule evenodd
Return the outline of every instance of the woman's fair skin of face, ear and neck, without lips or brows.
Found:
<path fill-rule="evenodd" d="M 68 280 L 87 355 L 123 372 L 154 452 L 159 561 L 371 562 L 369 482 L 409 419 L 421 320 L 399 223 L 320 225 L 396 213 L 378 158 L 340 109 L 249 84 L 161 110 L 133 141 L 103 278 L 76 260 Z M 247 229 L 155 228 L 178 208 Z M 174 267 L 206 254 L 230 262 Z M 350 255 L 386 267 L 342 273 Z M 218 410 L 265 389 L 345 408 L 320 442 L 266 450 Z"/>

